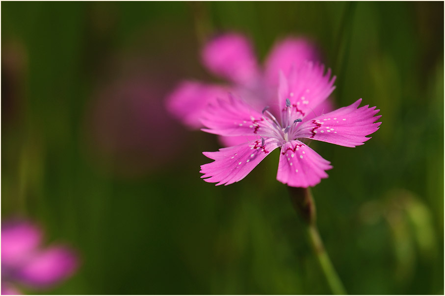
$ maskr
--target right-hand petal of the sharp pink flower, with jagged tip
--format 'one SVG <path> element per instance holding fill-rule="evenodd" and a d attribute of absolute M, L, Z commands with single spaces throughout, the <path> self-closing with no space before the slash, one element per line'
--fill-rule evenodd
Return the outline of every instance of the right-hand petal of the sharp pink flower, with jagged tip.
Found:
<path fill-rule="evenodd" d="M 369 105 L 358 108 L 362 99 L 355 103 L 315 117 L 301 125 L 296 137 L 337 144 L 345 147 L 363 145 L 381 123 L 374 123 L 381 115 L 374 116 L 380 110 Z M 358 109 L 357 109 L 358 108 Z"/>

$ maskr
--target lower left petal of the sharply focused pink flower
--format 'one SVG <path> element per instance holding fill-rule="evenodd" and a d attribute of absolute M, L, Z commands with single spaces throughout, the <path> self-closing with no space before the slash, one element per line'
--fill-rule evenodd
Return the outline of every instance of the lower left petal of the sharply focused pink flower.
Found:
<path fill-rule="evenodd" d="M 201 166 L 204 175 L 201 178 L 216 185 L 229 185 L 242 180 L 250 173 L 272 150 L 279 147 L 276 139 L 266 139 L 244 143 L 238 146 L 222 148 L 216 152 L 203 152 L 214 162 Z"/>

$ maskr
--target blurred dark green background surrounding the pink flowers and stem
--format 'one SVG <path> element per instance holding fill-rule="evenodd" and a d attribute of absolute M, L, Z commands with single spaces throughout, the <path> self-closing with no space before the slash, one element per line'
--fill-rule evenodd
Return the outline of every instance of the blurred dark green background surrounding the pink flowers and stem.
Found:
<path fill-rule="evenodd" d="M 1 219 L 77 248 L 44 294 L 329 294 L 276 180 L 274 151 L 244 180 L 200 179 L 215 136 L 164 110 L 217 32 L 263 59 L 307 36 L 337 75 L 337 106 L 381 109 L 313 188 L 318 227 L 350 294 L 444 293 L 443 2 L 2 2 Z"/>

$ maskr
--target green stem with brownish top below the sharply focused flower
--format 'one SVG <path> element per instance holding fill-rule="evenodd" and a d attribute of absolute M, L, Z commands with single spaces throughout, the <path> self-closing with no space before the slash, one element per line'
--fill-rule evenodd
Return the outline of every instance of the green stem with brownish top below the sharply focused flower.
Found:
<path fill-rule="evenodd" d="M 331 291 L 335 295 L 346 295 L 346 291 L 341 283 L 340 277 L 332 265 L 331 259 L 323 246 L 320 234 L 315 223 L 315 203 L 309 188 L 288 187 L 290 200 L 295 210 L 301 215 L 305 222 L 311 247 L 320 264 L 326 281 Z"/>

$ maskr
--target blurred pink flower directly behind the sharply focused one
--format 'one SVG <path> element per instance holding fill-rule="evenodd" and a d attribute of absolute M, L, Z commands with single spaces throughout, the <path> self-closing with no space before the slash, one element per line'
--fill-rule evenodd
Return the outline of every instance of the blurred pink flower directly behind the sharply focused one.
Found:
<path fill-rule="evenodd" d="M 319 55 L 309 41 L 302 38 L 287 38 L 277 43 L 264 63 L 258 64 L 254 49 L 248 39 L 236 33 L 227 33 L 213 38 L 202 51 L 206 68 L 230 81 L 222 86 L 199 81 L 185 80 L 167 98 L 167 109 L 191 129 L 201 128 L 203 110 L 216 98 L 226 98 L 228 92 L 239 94 L 257 111 L 276 101 L 278 72 L 288 74 L 292 65 L 299 66 L 305 60 L 319 60 Z M 329 101 L 319 105 L 315 114 L 331 111 Z M 231 146 L 253 139 L 222 137 L 224 144 Z"/>

